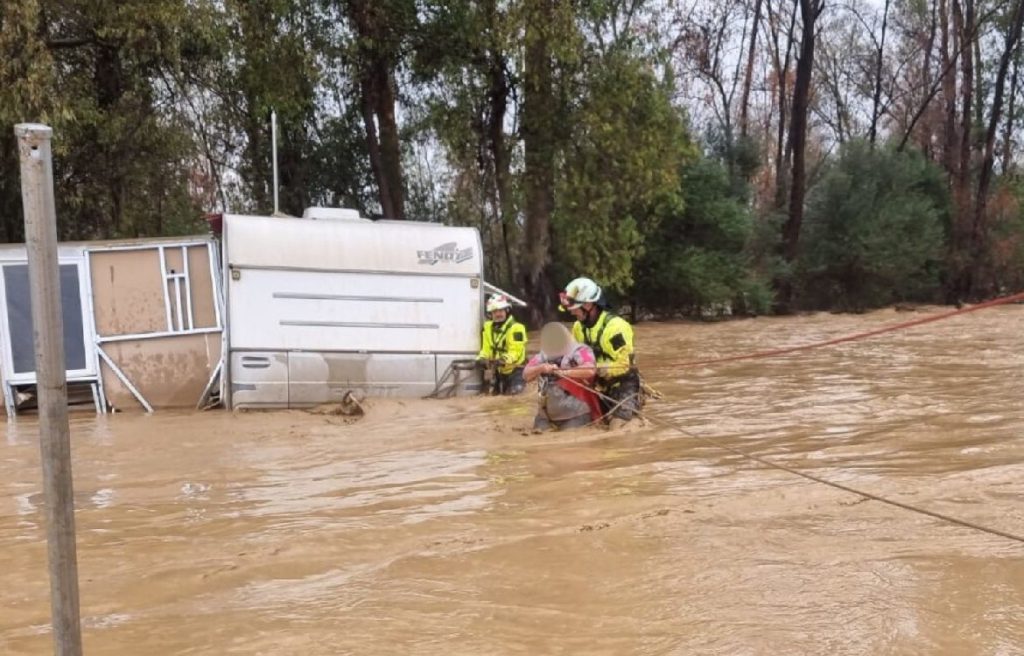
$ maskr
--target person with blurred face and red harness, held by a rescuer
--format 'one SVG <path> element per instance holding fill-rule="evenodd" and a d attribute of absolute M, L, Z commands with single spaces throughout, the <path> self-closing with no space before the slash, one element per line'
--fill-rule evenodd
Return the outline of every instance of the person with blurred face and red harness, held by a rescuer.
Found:
<path fill-rule="evenodd" d="M 523 371 L 526 382 L 540 379 L 541 401 L 534 430 L 566 430 L 601 421 L 601 403 L 593 391 L 594 352 L 579 344 L 561 323 L 541 331 L 541 352 Z"/>

